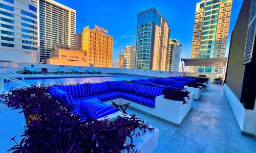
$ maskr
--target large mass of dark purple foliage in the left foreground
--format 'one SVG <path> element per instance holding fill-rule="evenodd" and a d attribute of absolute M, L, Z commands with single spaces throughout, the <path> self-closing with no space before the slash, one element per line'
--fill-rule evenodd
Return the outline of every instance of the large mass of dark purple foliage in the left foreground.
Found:
<path fill-rule="evenodd" d="M 11 89 L 0 95 L 0 102 L 13 109 L 22 109 L 27 128 L 21 142 L 9 151 L 13 152 L 134 152 L 133 137 L 143 136 L 149 127 L 135 115 L 97 120 L 71 113 L 72 108 L 61 105 L 48 93 L 49 86 L 32 86 Z M 135 129 L 141 130 L 136 133 Z M 126 139 L 131 139 L 131 144 Z"/>

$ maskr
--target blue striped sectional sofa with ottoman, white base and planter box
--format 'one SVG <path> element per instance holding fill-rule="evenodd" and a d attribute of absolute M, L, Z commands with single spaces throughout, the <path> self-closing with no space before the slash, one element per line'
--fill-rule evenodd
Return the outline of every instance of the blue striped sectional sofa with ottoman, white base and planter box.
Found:
<path fill-rule="evenodd" d="M 144 81 L 143 83 L 152 84 L 150 81 Z M 188 104 L 182 105 L 181 101 L 161 98 L 163 97 L 163 91 L 164 88 L 162 87 L 151 87 L 141 84 L 125 83 L 123 81 L 96 84 L 88 83 L 73 86 L 52 86 L 49 89 L 49 93 L 53 97 L 56 97 L 58 101 L 73 107 L 72 112 L 74 114 L 82 114 L 82 120 L 85 120 L 88 116 L 98 119 L 117 113 L 118 110 L 111 106 L 111 101 L 113 99 L 123 98 L 131 101 L 129 107 L 179 125 L 192 108 L 193 93 L 190 94 L 191 98 Z M 91 103 L 95 104 L 91 105 Z M 185 115 L 181 116 L 180 114 Z"/>

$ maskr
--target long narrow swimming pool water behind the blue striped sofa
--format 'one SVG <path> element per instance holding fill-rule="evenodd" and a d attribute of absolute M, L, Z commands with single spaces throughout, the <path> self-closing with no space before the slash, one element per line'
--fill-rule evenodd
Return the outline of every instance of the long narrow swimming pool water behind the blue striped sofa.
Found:
<path fill-rule="evenodd" d="M 52 85 L 52 84 L 76 84 L 76 83 L 99 83 L 105 81 L 121 81 L 121 80 L 137 80 L 137 79 L 148 79 L 148 77 L 140 77 L 140 76 L 112 76 L 112 77 L 84 77 L 84 78 L 51 78 L 51 79 L 25 79 L 24 81 L 29 83 L 30 85 Z M 12 87 L 21 88 L 22 85 L 19 85 L 15 82 L 7 82 L 5 83 L 4 90 L 9 90 Z"/>

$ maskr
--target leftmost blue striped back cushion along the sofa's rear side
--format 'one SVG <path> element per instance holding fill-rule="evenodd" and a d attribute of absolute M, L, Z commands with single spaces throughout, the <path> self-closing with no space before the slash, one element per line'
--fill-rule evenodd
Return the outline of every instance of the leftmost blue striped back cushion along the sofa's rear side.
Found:
<path fill-rule="evenodd" d="M 73 98 L 87 96 L 86 84 L 73 85 L 73 86 L 55 86 L 55 87 L 69 93 Z"/>

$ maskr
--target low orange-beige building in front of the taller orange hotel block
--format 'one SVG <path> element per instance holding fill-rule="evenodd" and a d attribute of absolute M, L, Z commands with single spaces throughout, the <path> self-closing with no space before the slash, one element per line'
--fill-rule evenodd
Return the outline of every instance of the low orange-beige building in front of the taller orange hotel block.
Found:
<path fill-rule="evenodd" d="M 82 50 L 73 50 L 65 47 L 55 46 L 50 54 L 49 59 L 43 59 L 44 64 L 53 65 L 74 65 L 74 66 L 90 66 L 87 60 L 87 53 Z"/>

